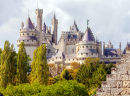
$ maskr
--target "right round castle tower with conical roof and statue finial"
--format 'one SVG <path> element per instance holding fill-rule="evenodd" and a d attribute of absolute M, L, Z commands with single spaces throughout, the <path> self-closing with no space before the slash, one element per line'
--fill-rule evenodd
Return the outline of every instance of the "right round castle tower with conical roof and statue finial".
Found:
<path fill-rule="evenodd" d="M 86 57 L 92 57 L 92 58 L 98 58 L 98 52 L 96 51 L 96 42 L 95 38 L 90 32 L 91 30 L 87 28 L 83 39 L 78 44 L 78 52 L 77 52 L 77 58 L 80 63 L 83 63 Z"/>

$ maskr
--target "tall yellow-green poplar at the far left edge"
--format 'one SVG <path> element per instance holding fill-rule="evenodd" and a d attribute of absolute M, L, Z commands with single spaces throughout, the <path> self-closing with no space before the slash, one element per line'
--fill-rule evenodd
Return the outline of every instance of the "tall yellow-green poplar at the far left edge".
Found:
<path fill-rule="evenodd" d="M 5 41 L 4 49 L 0 56 L 0 87 L 6 88 L 8 84 L 14 85 L 16 52 L 13 44 Z"/>

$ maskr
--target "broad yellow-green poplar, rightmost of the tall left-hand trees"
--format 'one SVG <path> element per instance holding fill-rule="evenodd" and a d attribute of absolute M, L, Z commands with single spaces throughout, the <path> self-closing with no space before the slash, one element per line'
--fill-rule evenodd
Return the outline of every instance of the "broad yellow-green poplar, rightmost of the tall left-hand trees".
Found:
<path fill-rule="evenodd" d="M 31 83 L 47 85 L 49 78 L 49 67 L 46 59 L 46 45 L 41 45 L 38 49 L 34 50 L 31 68 Z"/>

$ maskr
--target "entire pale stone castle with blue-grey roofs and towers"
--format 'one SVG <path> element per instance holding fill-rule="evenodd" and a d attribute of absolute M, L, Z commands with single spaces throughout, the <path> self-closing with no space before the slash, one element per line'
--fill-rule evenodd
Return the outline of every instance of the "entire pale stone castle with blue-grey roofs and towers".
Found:
<path fill-rule="evenodd" d="M 47 46 L 47 62 L 48 64 L 63 64 L 70 65 L 72 62 L 82 64 L 86 57 L 100 58 L 100 62 L 116 63 L 121 59 L 121 43 L 119 49 L 114 49 L 109 41 L 109 44 L 95 40 L 95 37 L 87 24 L 85 32 L 78 29 L 76 21 L 70 26 L 69 31 L 62 31 L 59 41 L 58 20 L 54 14 L 51 24 L 52 27 L 46 26 L 42 22 L 42 9 L 36 9 L 37 25 L 32 23 L 30 17 L 26 23 L 21 24 L 20 37 L 17 40 L 17 46 L 20 42 L 25 43 L 27 55 L 33 60 L 33 51 L 41 44 Z M 102 49 L 103 46 L 103 49 Z"/>

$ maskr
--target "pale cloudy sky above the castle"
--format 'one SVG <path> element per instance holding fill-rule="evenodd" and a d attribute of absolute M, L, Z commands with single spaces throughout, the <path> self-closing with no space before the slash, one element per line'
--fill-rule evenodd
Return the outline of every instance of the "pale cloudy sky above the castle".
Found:
<path fill-rule="evenodd" d="M 21 23 L 28 16 L 36 25 L 35 10 L 43 9 L 43 22 L 51 27 L 55 13 L 58 19 L 58 40 L 62 31 L 69 31 L 74 20 L 81 32 L 87 28 L 87 19 L 95 38 L 122 50 L 130 42 L 130 0 L 0 0 L 0 48 L 5 40 L 17 48 Z"/>

